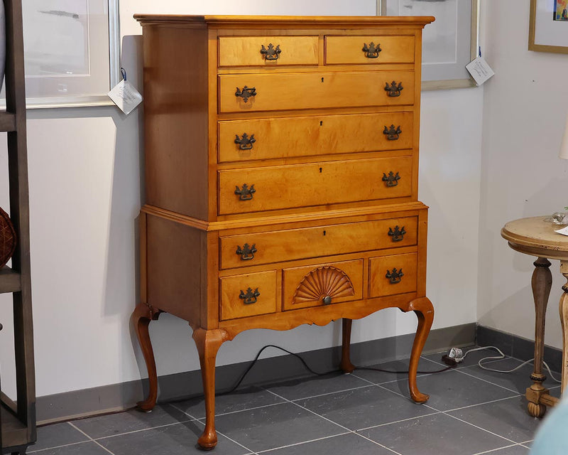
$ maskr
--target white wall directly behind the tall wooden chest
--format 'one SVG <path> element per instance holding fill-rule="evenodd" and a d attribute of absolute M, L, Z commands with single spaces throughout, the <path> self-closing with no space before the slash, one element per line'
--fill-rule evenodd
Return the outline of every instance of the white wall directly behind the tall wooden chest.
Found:
<path fill-rule="evenodd" d="M 134 13 L 373 15 L 376 9 L 375 0 L 209 3 L 121 0 L 129 80 L 141 88 Z M 476 321 L 482 102 L 482 89 L 422 95 L 420 199 L 431 207 L 427 287 L 435 328 Z M 38 396 L 146 376 L 129 326 L 138 296 L 143 191 L 139 109 L 129 117 L 112 107 L 29 111 L 28 144 Z M 6 185 L 0 185 L 6 207 Z M 415 325 L 414 314 L 381 311 L 356 321 L 353 341 L 411 333 Z M 151 324 L 158 374 L 199 368 L 190 335 L 187 323 L 168 314 Z M 0 332 L 6 343 L 10 337 L 9 328 Z M 267 343 L 294 351 L 333 346 L 340 343 L 339 326 L 245 332 L 224 344 L 218 365 L 251 360 Z M 10 370 L 5 350 L 3 374 Z M 2 380 L 3 388 L 10 385 Z"/>

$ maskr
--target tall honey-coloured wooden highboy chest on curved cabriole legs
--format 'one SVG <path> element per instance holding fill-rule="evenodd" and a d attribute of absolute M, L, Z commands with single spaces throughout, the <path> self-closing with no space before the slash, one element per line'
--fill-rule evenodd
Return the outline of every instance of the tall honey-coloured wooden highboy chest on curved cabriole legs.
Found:
<path fill-rule="evenodd" d="M 189 321 L 217 444 L 219 346 L 413 310 L 410 395 L 434 310 L 425 294 L 427 207 L 417 201 L 422 28 L 432 17 L 136 15 L 143 26 L 146 205 L 133 322 Z"/>

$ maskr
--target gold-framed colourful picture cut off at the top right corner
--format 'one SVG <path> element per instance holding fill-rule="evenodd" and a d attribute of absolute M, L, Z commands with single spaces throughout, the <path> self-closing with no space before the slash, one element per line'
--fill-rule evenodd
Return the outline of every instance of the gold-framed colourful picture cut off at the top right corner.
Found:
<path fill-rule="evenodd" d="M 568 0 L 530 0 L 528 50 L 568 54 Z"/>

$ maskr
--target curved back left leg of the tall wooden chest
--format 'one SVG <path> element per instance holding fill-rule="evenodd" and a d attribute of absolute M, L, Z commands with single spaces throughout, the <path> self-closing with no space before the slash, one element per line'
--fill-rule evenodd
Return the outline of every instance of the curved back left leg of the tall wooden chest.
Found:
<path fill-rule="evenodd" d="M 136 305 L 132 313 L 132 322 L 136 336 L 138 336 L 138 343 L 140 343 L 144 360 L 146 360 L 148 382 L 150 385 L 146 400 L 136 403 L 138 409 L 142 411 L 153 410 L 155 401 L 158 399 L 158 374 L 155 370 L 154 351 L 150 341 L 150 333 L 148 333 L 148 326 L 150 321 L 156 321 L 158 319 L 160 313 L 160 310 L 153 309 L 152 306 L 145 303 Z"/>

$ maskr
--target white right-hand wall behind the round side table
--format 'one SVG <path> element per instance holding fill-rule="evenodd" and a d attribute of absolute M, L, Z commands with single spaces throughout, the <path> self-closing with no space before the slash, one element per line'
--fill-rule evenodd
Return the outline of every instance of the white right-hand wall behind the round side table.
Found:
<path fill-rule="evenodd" d="M 568 205 L 568 161 L 558 158 L 568 55 L 528 50 L 529 4 L 484 2 L 484 56 L 496 75 L 484 93 L 478 316 L 485 326 L 533 339 L 535 258 L 510 250 L 499 232 L 509 220 Z M 560 348 L 557 302 L 564 279 L 558 267 L 552 261 L 545 343 Z"/>

